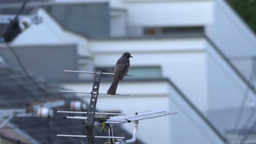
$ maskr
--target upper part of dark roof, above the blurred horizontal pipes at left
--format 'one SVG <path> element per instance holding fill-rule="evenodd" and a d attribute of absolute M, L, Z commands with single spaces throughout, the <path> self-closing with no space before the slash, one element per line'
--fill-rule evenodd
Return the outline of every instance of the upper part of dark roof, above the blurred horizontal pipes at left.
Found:
<path fill-rule="evenodd" d="M 8 65 L 0 64 L 0 109 L 25 108 L 27 103 L 64 99 L 65 95 L 70 95 L 60 93 L 61 88 L 54 82 L 46 82 L 33 76 L 32 79 L 51 95 L 33 85 L 21 71 L 11 69 Z"/>

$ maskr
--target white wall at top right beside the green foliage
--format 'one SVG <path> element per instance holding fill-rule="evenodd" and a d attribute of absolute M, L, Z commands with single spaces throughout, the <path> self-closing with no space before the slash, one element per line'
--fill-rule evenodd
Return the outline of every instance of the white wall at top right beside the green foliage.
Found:
<path fill-rule="evenodd" d="M 213 33 L 208 35 L 229 57 L 256 55 L 255 35 L 223 0 L 214 0 Z"/>

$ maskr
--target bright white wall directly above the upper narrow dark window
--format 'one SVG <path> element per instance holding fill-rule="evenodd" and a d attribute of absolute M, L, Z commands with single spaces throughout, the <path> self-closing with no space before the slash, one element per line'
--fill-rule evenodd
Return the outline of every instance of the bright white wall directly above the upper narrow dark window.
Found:
<path fill-rule="evenodd" d="M 212 1 L 124 1 L 128 25 L 205 26 L 213 21 Z"/>

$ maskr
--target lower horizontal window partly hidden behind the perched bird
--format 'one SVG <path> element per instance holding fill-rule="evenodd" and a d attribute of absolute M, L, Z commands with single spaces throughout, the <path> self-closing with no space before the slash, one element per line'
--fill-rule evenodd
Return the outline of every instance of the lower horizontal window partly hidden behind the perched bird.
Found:
<path fill-rule="evenodd" d="M 114 73 L 114 68 L 110 67 L 97 67 L 105 73 Z M 126 76 L 125 79 L 159 79 L 161 78 L 161 68 L 155 67 L 130 67 L 128 74 L 133 76 Z M 112 75 L 102 75 L 101 79 L 113 79 Z"/>

